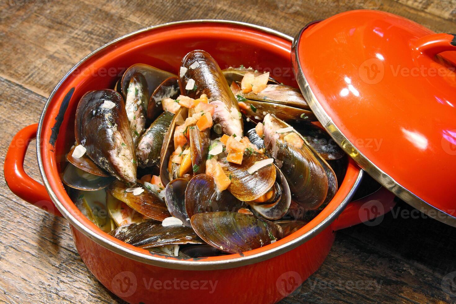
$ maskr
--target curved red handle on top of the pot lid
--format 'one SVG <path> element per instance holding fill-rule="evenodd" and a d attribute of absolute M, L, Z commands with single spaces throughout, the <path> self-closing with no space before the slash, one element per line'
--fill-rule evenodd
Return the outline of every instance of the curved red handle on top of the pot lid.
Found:
<path fill-rule="evenodd" d="M 412 43 L 417 52 L 433 57 L 441 52 L 456 51 L 456 34 L 431 34 Z"/>

